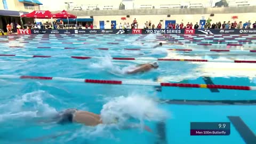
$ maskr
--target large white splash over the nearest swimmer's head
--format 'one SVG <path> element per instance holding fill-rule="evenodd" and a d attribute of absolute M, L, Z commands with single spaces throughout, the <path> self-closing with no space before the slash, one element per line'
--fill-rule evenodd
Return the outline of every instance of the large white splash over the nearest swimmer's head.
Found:
<path fill-rule="evenodd" d="M 117 97 L 110 100 L 101 110 L 102 122 L 109 124 L 118 118 L 118 123 L 124 124 L 130 118 L 143 121 L 162 121 L 167 117 L 164 110 L 157 107 L 157 103 L 148 97 L 132 94 L 129 97 Z"/>

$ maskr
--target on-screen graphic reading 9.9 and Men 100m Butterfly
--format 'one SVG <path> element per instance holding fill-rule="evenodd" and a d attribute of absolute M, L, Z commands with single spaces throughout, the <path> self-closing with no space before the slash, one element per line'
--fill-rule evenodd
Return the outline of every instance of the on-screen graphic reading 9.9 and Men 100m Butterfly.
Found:
<path fill-rule="evenodd" d="M 191 122 L 190 135 L 230 135 L 230 122 Z"/>

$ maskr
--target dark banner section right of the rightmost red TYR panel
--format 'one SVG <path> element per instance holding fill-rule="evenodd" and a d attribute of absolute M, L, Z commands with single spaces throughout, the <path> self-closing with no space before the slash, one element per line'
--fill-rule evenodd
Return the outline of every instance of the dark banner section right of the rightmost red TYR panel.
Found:
<path fill-rule="evenodd" d="M 253 35 L 256 29 L 196 29 L 195 34 L 198 35 Z"/>

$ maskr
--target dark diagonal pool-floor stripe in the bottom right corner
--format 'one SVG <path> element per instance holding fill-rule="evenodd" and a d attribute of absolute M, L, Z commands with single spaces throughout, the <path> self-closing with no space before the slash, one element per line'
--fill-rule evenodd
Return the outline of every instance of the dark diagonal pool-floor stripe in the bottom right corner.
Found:
<path fill-rule="evenodd" d="M 227 116 L 246 144 L 255 144 L 256 136 L 239 116 Z"/>

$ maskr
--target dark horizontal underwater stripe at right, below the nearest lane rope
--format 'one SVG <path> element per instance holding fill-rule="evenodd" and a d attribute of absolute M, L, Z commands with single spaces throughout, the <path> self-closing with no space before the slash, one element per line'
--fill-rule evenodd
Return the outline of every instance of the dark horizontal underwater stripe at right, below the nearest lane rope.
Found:
<path fill-rule="evenodd" d="M 256 106 L 256 100 L 181 100 L 181 99 L 159 99 L 160 103 L 169 105 L 195 105 L 195 106 Z"/>

